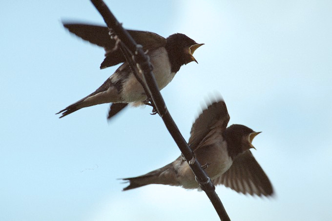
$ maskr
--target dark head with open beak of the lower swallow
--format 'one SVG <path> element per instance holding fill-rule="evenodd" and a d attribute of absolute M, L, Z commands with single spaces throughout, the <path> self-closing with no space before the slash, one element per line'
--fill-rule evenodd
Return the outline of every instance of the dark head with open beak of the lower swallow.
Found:
<path fill-rule="evenodd" d="M 224 138 L 227 141 L 228 153 L 233 158 L 240 153 L 255 147 L 251 144 L 254 137 L 261 132 L 255 132 L 247 126 L 233 124 L 224 132 Z"/>

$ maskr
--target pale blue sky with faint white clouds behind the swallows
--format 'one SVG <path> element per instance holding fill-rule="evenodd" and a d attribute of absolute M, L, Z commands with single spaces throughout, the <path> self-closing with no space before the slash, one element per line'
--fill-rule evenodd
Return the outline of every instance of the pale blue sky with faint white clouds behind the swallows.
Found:
<path fill-rule="evenodd" d="M 217 186 L 234 221 L 332 219 L 332 1 L 106 1 L 126 28 L 205 43 L 162 91 L 188 139 L 209 94 L 229 124 L 263 131 L 253 150 L 272 199 Z M 218 220 L 204 192 L 117 180 L 145 174 L 180 151 L 150 107 L 106 121 L 108 104 L 54 115 L 97 89 L 104 50 L 61 20 L 104 24 L 88 0 L 0 4 L 0 220 Z"/>

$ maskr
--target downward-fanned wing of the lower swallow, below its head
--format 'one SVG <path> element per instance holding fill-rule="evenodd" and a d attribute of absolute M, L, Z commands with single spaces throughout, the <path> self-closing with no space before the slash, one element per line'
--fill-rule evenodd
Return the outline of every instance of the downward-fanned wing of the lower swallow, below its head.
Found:
<path fill-rule="evenodd" d="M 213 183 L 224 184 L 243 194 L 270 196 L 273 193 L 268 176 L 249 150 L 237 156 L 228 171 L 214 179 Z"/>

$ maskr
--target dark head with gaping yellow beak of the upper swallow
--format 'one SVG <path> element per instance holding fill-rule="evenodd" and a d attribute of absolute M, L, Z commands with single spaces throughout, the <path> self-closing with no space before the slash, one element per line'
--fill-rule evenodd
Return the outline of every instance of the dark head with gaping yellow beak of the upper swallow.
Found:
<path fill-rule="evenodd" d="M 166 39 L 165 48 L 172 65 L 172 72 L 178 72 L 182 65 L 190 63 L 191 61 L 198 63 L 193 54 L 195 50 L 202 45 L 203 44 L 196 43 L 196 41 L 184 34 L 176 33 L 170 35 Z"/>

